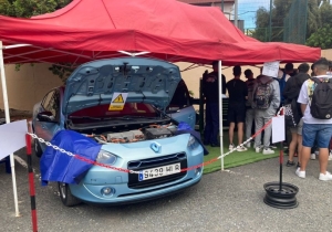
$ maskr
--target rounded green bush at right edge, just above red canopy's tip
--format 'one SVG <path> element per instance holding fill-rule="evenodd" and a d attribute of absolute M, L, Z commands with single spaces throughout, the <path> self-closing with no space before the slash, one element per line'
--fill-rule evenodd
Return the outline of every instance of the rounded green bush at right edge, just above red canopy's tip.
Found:
<path fill-rule="evenodd" d="M 332 49 L 332 28 L 325 25 L 312 33 L 307 40 L 307 45 L 319 46 L 321 49 Z"/>

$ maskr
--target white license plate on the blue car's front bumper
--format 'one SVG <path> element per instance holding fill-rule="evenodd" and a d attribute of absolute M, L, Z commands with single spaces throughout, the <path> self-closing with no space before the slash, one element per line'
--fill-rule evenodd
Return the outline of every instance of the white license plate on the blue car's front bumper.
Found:
<path fill-rule="evenodd" d="M 174 173 L 178 173 L 181 171 L 180 164 L 166 165 L 162 167 L 151 168 L 141 170 L 138 175 L 138 180 L 149 180 L 158 177 L 165 177 Z"/>

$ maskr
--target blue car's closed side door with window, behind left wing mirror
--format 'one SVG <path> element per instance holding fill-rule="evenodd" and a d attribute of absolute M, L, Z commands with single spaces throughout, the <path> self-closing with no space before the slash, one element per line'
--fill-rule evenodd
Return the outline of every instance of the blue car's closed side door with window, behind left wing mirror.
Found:
<path fill-rule="evenodd" d="M 35 118 L 34 130 L 37 136 L 50 141 L 53 135 L 60 129 L 60 92 L 59 89 L 53 89 L 49 92 L 39 108 L 39 113 L 48 112 L 50 117 L 53 118 L 52 122 L 41 122 Z M 41 144 L 43 146 L 43 144 Z M 42 147 L 44 148 L 44 147 Z"/>

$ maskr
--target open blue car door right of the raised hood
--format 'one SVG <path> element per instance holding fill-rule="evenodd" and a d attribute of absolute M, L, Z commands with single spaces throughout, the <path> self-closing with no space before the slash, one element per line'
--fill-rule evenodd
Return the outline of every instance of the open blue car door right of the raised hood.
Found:
<path fill-rule="evenodd" d="M 184 122 L 188 124 L 193 129 L 195 129 L 196 112 L 194 106 L 191 105 L 187 85 L 183 80 L 177 85 L 177 88 L 166 112 L 178 123 Z"/>

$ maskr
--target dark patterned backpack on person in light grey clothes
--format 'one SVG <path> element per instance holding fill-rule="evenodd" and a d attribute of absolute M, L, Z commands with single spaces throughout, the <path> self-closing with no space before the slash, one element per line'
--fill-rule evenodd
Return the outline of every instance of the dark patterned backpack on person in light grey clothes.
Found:
<path fill-rule="evenodd" d="M 253 101 L 256 103 L 256 108 L 267 109 L 270 107 L 270 103 L 272 102 L 272 87 L 270 83 L 273 82 L 271 78 L 267 83 L 262 83 L 259 78 L 257 78 L 257 88 L 255 91 Z"/>

